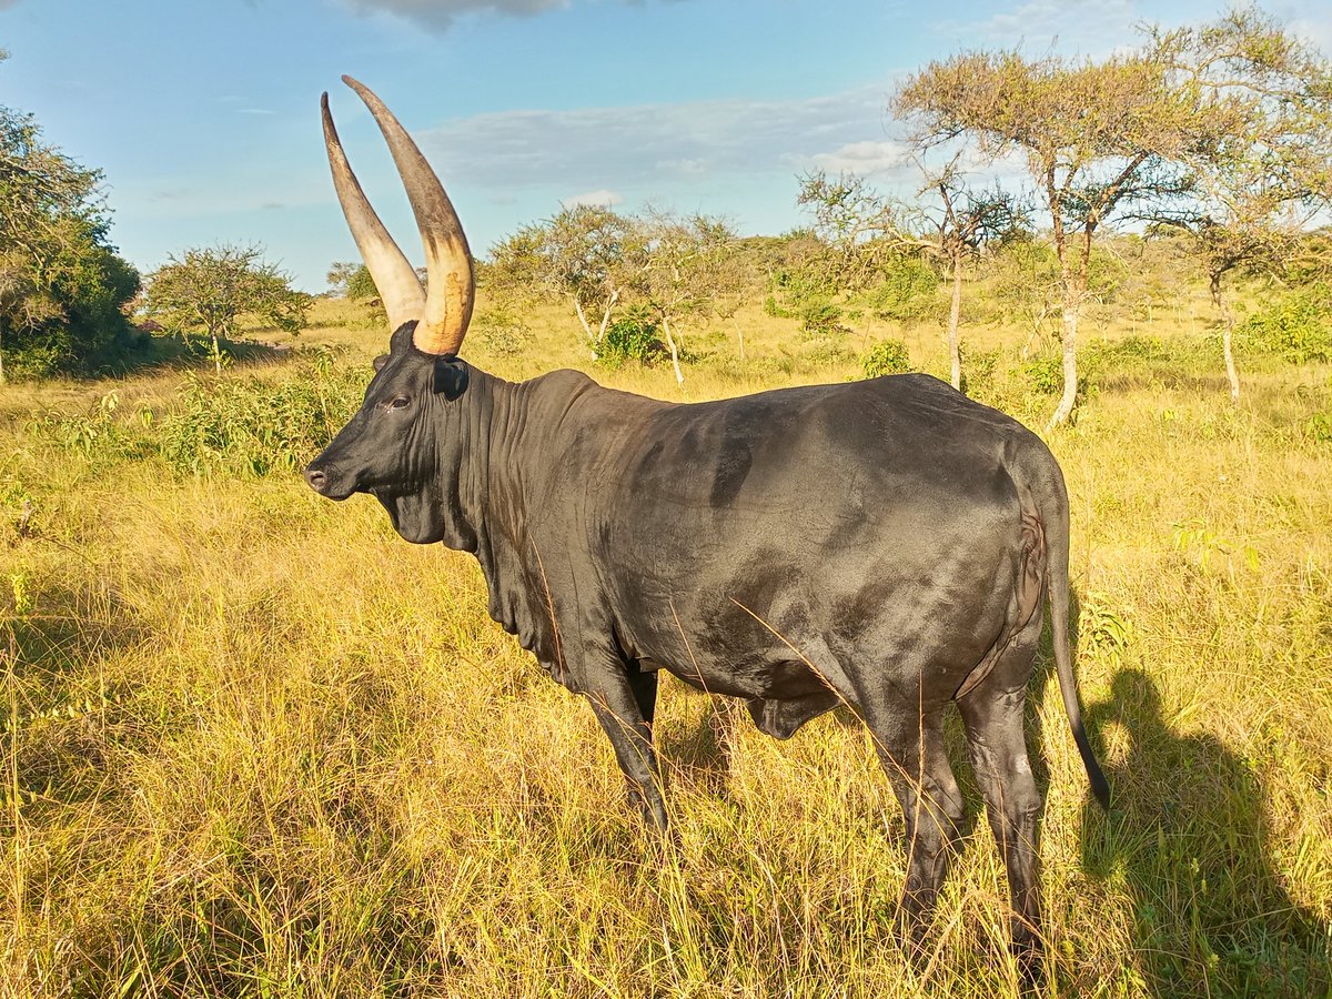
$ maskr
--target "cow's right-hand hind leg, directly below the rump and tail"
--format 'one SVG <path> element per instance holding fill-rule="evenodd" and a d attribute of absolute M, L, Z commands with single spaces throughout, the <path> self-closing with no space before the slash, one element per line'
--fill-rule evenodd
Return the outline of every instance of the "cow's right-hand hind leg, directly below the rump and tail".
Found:
<path fill-rule="evenodd" d="M 984 681 L 958 702 L 986 814 L 1008 871 L 1012 947 L 1024 978 L 1040 963 L 1038 835 L 1042 799 L 1027 758 L 1023 714 L 1040 615 L 1010 646 Z"/>

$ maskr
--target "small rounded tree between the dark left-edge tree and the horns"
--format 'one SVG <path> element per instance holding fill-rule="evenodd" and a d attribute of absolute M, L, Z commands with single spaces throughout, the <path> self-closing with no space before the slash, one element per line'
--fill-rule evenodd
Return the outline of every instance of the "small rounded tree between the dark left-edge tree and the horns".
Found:
<path fill-rule="evenodd" d="M 305 324 L 309 304 L 310 296 L 294 290 L 288 274 L 264 260 L 262 246 L 220 245 L 168 257 L 148 277 L 144 308 L 168 329 L 202 330 L 221 373 L 221 341 L 236 333 L 241 316 L 260 316 L 294 333 Z"/>

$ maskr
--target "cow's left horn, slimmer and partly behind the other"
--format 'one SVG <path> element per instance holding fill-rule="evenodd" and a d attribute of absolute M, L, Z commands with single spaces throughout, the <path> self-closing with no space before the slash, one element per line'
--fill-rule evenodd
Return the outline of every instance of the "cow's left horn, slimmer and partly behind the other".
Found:
<path fill-rule="evenodd" d="M 361 190 L 361 182 L 352 173 L 352 164 L 346 161 L 342 143 L 338 141 L 337 129 L 333 127 L 328 93 L 320 97 L 320 109 L 324 112 L 324 145 L 329 152 L 329 169 L 333 170 L 337 200 L 352 229 L 352 238 L 361 250 L 361 260 L 374 278 L 384 310 L 389 313 L 389 329 L 394 330 L 404 322 L 421 320 L 425 316 L 425 292 L 421 289 L 421 281 L 389 236 L 389 230 L 384 228 L 380 216 L 370 208 L 370 201 Z"/>

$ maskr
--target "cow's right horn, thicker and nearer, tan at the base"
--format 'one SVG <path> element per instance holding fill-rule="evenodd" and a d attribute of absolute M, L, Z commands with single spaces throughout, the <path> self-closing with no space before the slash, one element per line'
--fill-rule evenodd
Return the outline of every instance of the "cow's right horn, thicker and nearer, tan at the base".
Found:
<path fill-rule="evenodd" d="M 477 286 L 462 224 L 449 196 L 444 193 L 440 178 L 434 176 L 412 136 L 393 117 L 393 112 L 384 107 L 384 101 L 373 91 L 350 76 L 344 76 L 342 83 L 361 96 L 380 123 L 393 161 L 402 174 L 417 228 L 421 229 L 421 241 L 425 244 L 425 314 L 417 324 L 412 342 L 428 354 L 457 353 L 472 320 L 472 301 Z"/>

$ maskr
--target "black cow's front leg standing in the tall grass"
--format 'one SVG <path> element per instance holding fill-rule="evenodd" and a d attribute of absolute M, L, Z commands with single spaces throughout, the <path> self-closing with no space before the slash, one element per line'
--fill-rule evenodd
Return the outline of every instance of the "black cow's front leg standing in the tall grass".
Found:
<path fill-rule="evenodd" d="M 587 691 L 591 710 L 601 722 L 615 759 L 629 783 L 629 798 L 643 821 L 666 831 L 666 799 L 662 797 L 661 766 L 653 749 L 653 717 L 657 711 L 657 674 L 606 670 Z"/>

